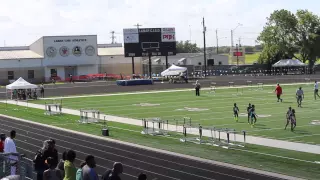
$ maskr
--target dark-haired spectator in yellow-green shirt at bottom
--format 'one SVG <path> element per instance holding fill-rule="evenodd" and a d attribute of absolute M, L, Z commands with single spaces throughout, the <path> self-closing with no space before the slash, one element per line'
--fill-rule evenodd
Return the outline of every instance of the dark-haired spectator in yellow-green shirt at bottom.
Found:
<path fill-rule="evenodd" d="M 76 152 L 73 150 L 69 150 L 67 152 L 67 158 L 64 162 L 64 180 L 75 180 L 77 169 L 76 166 L 73 164 L 74 160 L 76 159 Z"/>

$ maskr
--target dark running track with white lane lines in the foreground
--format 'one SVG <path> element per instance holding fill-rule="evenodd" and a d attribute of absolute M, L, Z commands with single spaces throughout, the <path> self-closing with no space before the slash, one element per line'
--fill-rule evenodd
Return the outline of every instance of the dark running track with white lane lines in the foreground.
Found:
<path fill-rule="evenodd" d="M 28 158 L 34 157 L 44 140 L 54 138 L 60 156 L 67 149 L 76 151 L 76 165 L 86 155 L 94 155 L 99 175 L 113 162 L 122 162 L 123 180 L 134 180 L 140 172 L 146 173 L 149 180 L 280 179 L 0 117 L 0 132 L 8 133 L 11 129 L 17 131 L 17 150 Z"/>

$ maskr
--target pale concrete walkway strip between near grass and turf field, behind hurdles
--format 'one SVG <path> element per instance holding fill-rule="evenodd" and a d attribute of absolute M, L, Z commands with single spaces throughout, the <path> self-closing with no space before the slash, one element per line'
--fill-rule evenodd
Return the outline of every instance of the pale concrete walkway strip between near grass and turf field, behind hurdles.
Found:
<path fill-rule="evenodd" d="M 2 103 L 6 103 L 6 101 L 0 101 Z M 17 102 L 13 100 L 8 100 L 8 104 L 17 104 L 19 106 L 25 106 L 25 107 L 31 107 L 31 108 L 37 108 L 37 109 L 45 109 L 44 105 L 40 104 L 33 104 L 33 103 L 26 103 L 26 102 Z M 80 111 L 73 110 L 73 109 L 66 109 L 62 108 L 62 112 L 65 114 L 71 114 L 80 116 Z M 106 114 L 100 114 L 100 118 L 106 118 L 108 121 L 113 122 L 119 122 L 124 124 L 131 124 L 136 126 L 142 126 L 142 121 L 137 119 L 131 119 L 131 118 L 123 118 L 123 117 L 117 117 L 117 116 L 110 116 Z M 151 123 L 150 123 L 151 124 Z M 150 126 L 150 125 L 149 125 Z M 142 129 L 142 127 L 141 127 Z M 175 126 L 175 125 L 168 125 L 169 131 L 178 131 L 182 132 L 183 127 L 182 126 Z M 197 128 L 188 128 L 187 133 L 198 135 L 199 130 Z M 203 130 L 203 136 L 211 137 L 211 131 L 209 130 Z M 218 133 L 216 133 L 218 136 Z M 227 134 L 222 133 L 220 134 L 221 139 L 227 139 Z M 230 140 L 233 141 L 234 137 L 233 134 L 230 135 Z M 243 135 L 236 135 L 236 141 L 237 142 L 243 142 Z M 255 136 L 246 136 L 246 143 L 249 144 L 256 144 L 261 146 L 268 146 L 268 147 L 274 147 L 274 148 L 281 148 L 281 149 L 288 149 L 288 150 L 294 150 L 294 151 L 300 151 L 300 152 L 307 152 L 307 153 L 313 153 L 313 154 L 320 154 L 320 146 L 318 145 L 311 145 L 311 144 L 304 144 L 304 143 L 296 143 L 296 142 L 288 142 L 288 141 L 282 141 L 282 140 L 275 140 L 275 139 L 268 139 L 268 138 L 261 138 L 261 137 L 255 137 Z"/>

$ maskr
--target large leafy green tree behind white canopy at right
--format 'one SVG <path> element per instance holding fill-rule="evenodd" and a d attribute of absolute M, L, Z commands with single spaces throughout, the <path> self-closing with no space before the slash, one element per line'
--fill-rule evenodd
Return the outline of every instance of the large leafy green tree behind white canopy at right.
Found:
<path fill-rule="evenodd" d="M 319 35 L 317 15 L 307 10 L 298 10 L 296 14 L 276 10 L 258 37 L 263 47 L 259 62 L 271 64 L 282 58 L 296 58 L 308 61 L 312 67 L 320 55 Z"/>

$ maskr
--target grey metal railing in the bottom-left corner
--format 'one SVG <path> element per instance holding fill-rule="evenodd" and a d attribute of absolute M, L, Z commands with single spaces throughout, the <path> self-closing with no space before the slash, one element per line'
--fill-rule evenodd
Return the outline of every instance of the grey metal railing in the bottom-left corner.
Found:
<path fill-rule="evenodd" d="M 32 160 L 19 153 L 0 153 L 0 179 L 33 179 Z"/>

